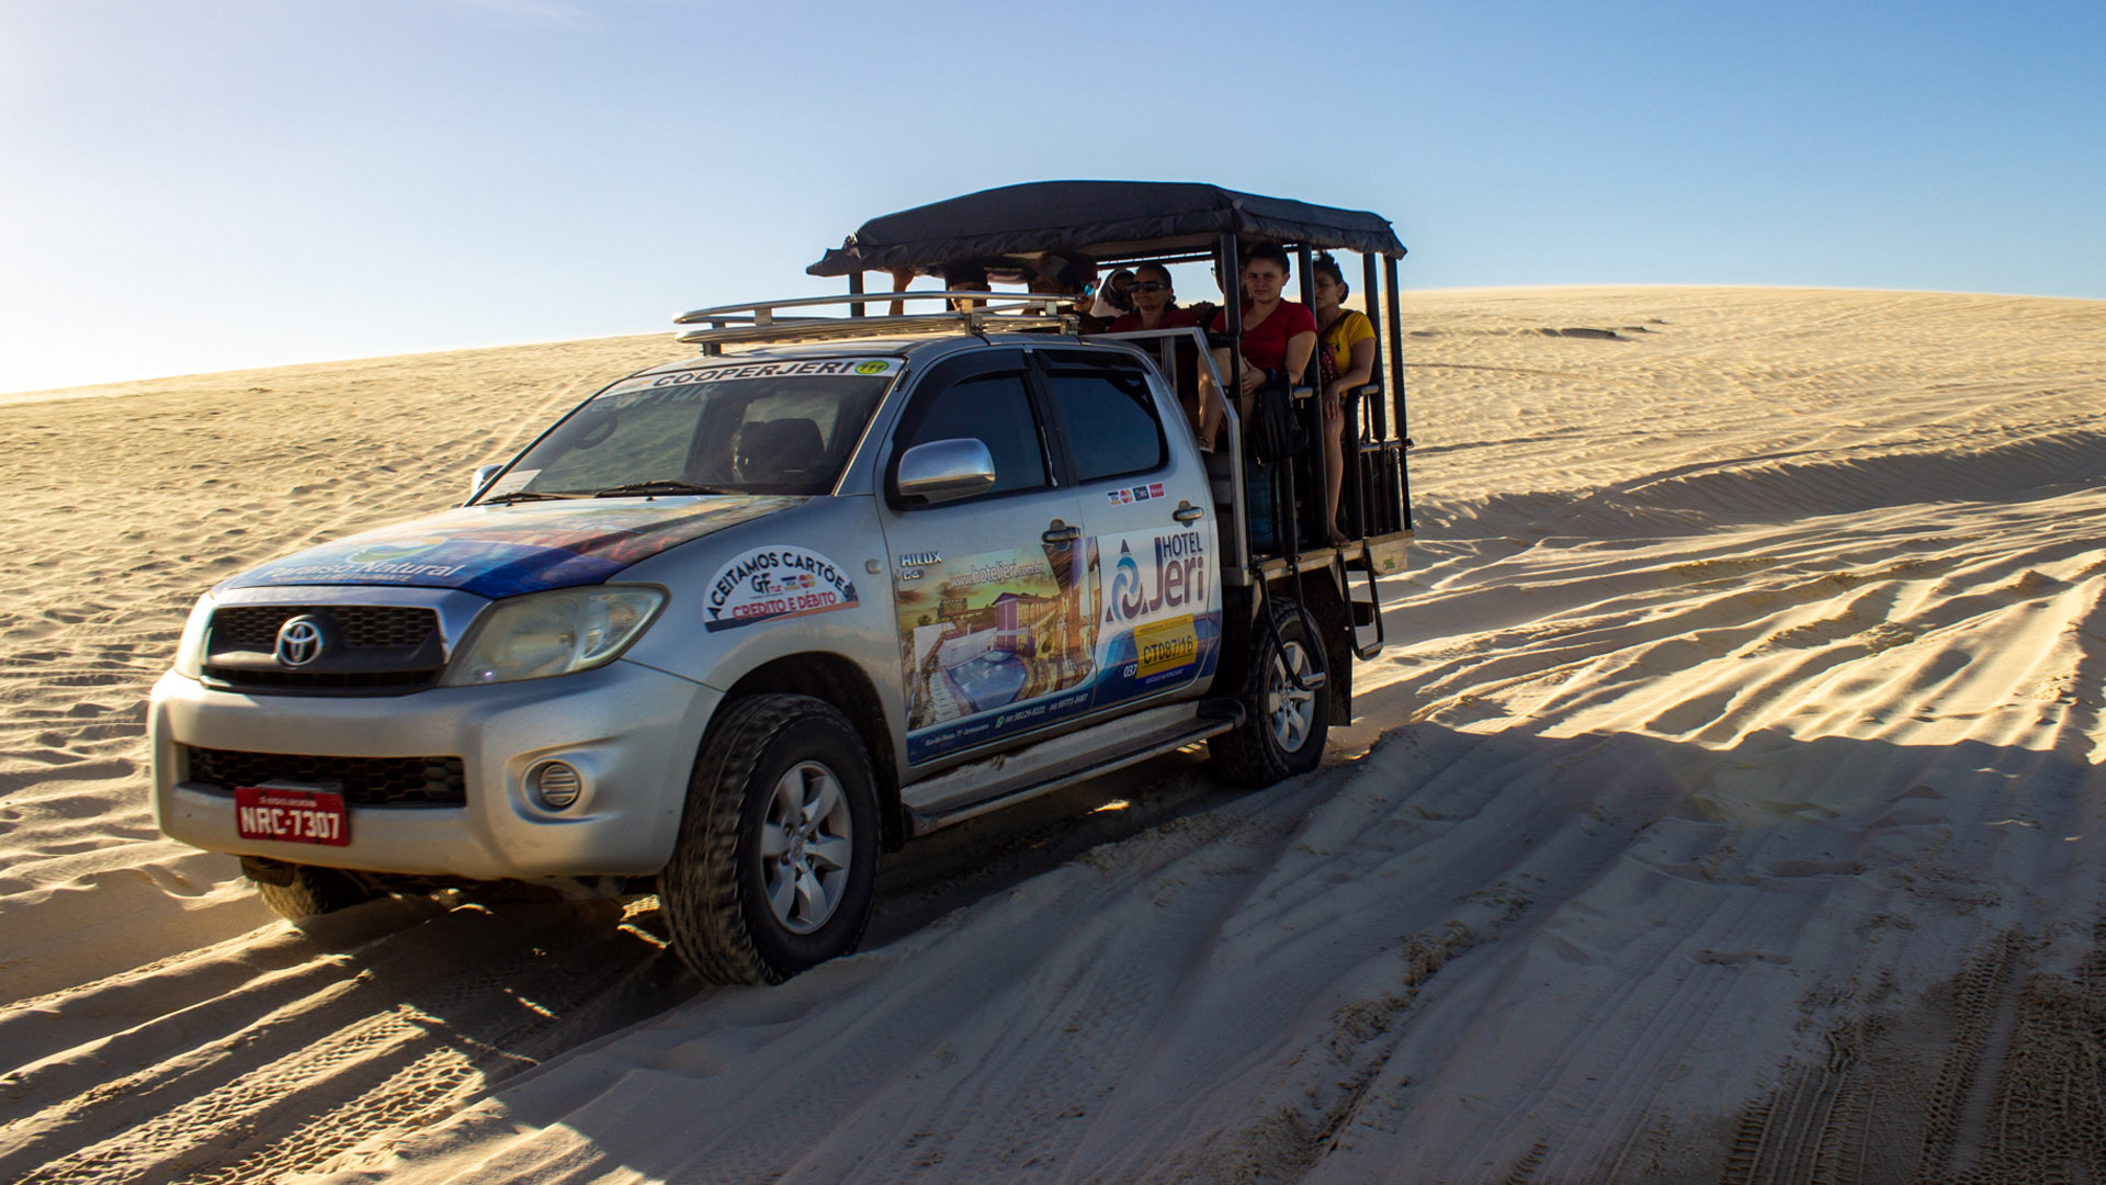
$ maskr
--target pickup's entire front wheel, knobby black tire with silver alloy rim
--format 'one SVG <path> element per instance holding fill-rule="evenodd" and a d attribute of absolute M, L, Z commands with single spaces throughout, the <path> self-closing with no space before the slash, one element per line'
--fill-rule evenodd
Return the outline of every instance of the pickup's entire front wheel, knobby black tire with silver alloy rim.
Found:
<path fill-rule="evenodd" d="M 870 924 L 878 805 L 870 753 L 840 708 L 748 696 L 710 725 L 659 905 L 710 983 L 781 983 L 847 955 Z"/>

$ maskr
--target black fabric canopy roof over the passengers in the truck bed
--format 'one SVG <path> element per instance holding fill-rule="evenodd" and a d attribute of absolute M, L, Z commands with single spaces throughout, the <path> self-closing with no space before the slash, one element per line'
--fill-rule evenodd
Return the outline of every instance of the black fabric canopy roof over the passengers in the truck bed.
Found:
<path fill-rule="evenodd" d="M 1363 255 L 1405 253 L 1390 221 L 1367 211 L 1192 181 L 1030 181 L 874 217 L 804 270 L 847 276 L 1038 251 L 1120 259 L 1205 251 L 1226 232 Z"/>

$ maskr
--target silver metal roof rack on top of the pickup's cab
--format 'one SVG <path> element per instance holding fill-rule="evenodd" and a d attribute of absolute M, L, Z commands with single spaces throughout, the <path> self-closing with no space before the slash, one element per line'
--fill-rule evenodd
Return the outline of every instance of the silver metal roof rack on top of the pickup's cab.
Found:
<path fill-rule="evenodd" d="M 981 308 L 914 312 L 901 316 L 863 316 L 866 304 L 876 302 L 952 302 L 979 299 Z M 891 337 L 899 333 L 1007 333 L 1017 329 L 1055 329 L 1074 333 L 1080 323 L 1074 314 L 1059 312 L 1072 295 L 1055 293 L 975 293 L 975 291 L 899 291 L 899 293 L 849 293 L 794 299 L 762 299 L 752 304 L 720 304 L 697 308 L 672 318 L 674 325 L 708 325 L 689 329 L 680 342 L 703 346 L 758 344 L 758 342 L 819 342 L 828 337 Z M 849 316 L 777 316 L 781 308 L 851 306 Z"/>

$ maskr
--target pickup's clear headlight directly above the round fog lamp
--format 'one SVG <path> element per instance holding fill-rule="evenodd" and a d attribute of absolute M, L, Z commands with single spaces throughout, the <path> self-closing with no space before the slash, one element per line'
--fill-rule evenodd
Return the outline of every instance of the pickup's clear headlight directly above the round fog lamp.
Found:
<path fill-rule="evenodd" d="M 663 590 L 640 584 L 499 601 L 482 614 L 440 683 L 472 687 L 604 666 L 644 633 L 663 603 Z"/>

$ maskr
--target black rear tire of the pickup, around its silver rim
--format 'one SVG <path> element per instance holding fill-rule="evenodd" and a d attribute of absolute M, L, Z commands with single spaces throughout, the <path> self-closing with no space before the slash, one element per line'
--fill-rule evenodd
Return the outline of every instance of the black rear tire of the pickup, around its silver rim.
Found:
<path fill-rule="evenodd" d="M 1251 624 L 1251 654 L 1245 656 L 1243 687 L 1234 692 L 1243 702 L 1243 723 L 1207 742 L 1215 774 L 1232 786 L 1270 786 L 1280 778 L 1308 774 L 1323 761 L 1323 742 L 1331 732 L 1331 694 L 1295 692 L 1280 666 L 1285 649 L 1289 656 L 1299 652 L 1306 671 L 1327 671 L 1316 620 L 1287 597 L 1270 597 L 1268 603 L 1274 628 L 1268 630 L 1264 618 Z M 1278 736 L 1283 696 L 1308 708 L 1306 727 L 1291 744 Z"/>

